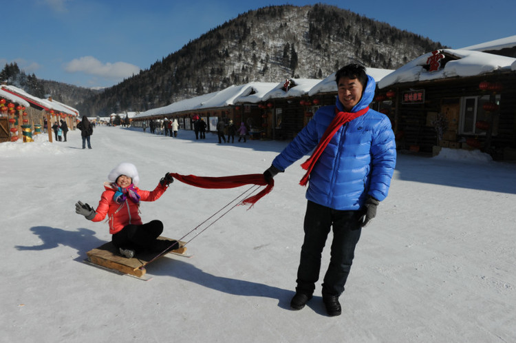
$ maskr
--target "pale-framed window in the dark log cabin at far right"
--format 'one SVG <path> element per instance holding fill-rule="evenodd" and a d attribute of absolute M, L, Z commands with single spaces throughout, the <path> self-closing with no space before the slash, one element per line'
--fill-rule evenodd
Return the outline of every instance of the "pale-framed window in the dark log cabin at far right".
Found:
<path fill-rule="evenodd" d="M 498 131 L 498 114 L 484 110 L 484 103 L 489 101 L 489 96 L 466 96 L 462 98 L 460 116 L 460 134 L 486 134 L 484 129 L 479 129 L 477 123 L 486 121 L 492 127 L 492 134 Z M 496 96 L 495 103 L 499 105 L 500 97 Z"/>

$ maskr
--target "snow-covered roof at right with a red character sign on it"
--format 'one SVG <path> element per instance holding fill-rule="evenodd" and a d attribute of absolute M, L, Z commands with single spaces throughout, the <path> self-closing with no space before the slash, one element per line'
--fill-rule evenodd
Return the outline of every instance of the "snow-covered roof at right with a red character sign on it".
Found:
<path fill-rule="evenodd" d="M 433 56 L 433 52 L 429 52 L 385 76 L 378 82 L 378 87 L 381 89 L 395 83 L 477 76 L 499 70 L 515 70 L 516 67 L 516 59 L 486 52 L 452 49 L 443 49 L 439 52 L 447 60 L 444 67 L 439 70 L 434 72 L 427 70 L 429 58 Z"/>

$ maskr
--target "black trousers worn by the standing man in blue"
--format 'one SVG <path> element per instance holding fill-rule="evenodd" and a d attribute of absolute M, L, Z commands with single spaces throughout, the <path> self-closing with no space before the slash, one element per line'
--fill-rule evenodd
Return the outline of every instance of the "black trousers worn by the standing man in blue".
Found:
<path fill-rule="evenodd" d="M 305 214 L 305 238 L 297 271 L 296 291 L 311 295 L 319 280 L 321 255 L 333 229 L 330 265 L 324 276 L 323 296 L 339 296 L 350 274 L 354 251 L 361 235 L 360 211 L 338 211 L 308 201 Z"/>

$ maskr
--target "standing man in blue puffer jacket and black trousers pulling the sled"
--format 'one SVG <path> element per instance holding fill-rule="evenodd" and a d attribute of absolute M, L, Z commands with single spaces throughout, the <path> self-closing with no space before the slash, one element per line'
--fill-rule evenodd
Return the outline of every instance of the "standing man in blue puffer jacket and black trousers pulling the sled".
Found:
<path fill-rule="evenodd" d="M 341 68 L 335 79 L 336 105 L 321 107 L 264 172 L 266 180 L 271 180 L 314 147 L 319 147 L 338 112 L 358 116 L 337 126 L 334 135 L 330 134 L 329 143 L 323 145 L 313 169 L 308 171 L 305 238 L 296 294 L 290 306 L 303 309 L 312 298 L 315 282 L 319 280 L 321 253 L 332 228 L 330 265 L 322 289 L 328 315 L 341 314 L 338 297 L 344 291 L 361 229 L 376 216 L 376 206 L 387 197 L 396 165 L 396 143 L 389 118 L 369 109 L 376 86 L 374 79 L 360 65 Z"/>

